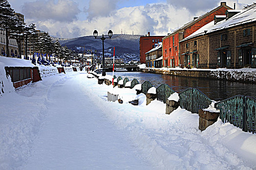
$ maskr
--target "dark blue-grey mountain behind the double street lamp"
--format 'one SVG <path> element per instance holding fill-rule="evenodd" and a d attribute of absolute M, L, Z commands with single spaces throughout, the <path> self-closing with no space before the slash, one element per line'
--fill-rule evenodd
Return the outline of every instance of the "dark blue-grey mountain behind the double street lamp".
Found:
<path fill-rule="evenodd" d="M 142 35 L 128 35 L 128 34 L 113 34 L 111 39 L 104 41 L 105 50 L 115 47 L 115 53 L 121 55 L 124 53 L 139 54 L 139 41 Z M 102 37 L 99 35 L 98 37 Z M 105 37 L 108 37 L 107 35 Z M 97 50 L 102 51 L 102 40 L 95 39 L 94 36 L 82 36 L 78 38 L 63 39 L 53 38 L 59 40 L 62 46 L 67 46 L 74 51 Z"/>

